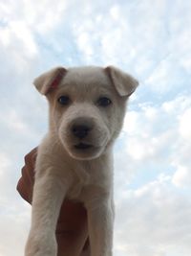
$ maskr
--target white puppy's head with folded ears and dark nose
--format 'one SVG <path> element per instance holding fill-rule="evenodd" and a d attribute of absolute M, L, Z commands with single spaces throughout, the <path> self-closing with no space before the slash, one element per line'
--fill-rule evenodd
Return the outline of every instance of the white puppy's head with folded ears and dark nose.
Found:
<path fill-rule="evenodd" d="M 50 131 L 76 159 L 107 151 L 138 81 L 116 67 L 57 67 L 34 81 L 50 104 Z"/>

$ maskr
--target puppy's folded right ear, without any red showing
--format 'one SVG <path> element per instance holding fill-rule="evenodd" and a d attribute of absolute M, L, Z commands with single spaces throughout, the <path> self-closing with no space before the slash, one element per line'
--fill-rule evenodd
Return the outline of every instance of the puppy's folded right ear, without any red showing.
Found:
<path fill-rule="evenodd" d="M 105 68 L 120 96 L 130 96 L 138 87 L 138 81 L 114 66 Z"/>

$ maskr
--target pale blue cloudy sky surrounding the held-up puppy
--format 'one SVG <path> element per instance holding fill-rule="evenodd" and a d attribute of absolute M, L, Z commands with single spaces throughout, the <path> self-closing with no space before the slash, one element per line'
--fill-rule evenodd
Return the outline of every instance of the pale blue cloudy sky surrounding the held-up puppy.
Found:
<path fill-rule="evenodd" d="M 191 1 L 0 0 L 0 256 L 23 255 L 15 187 L 47 131 L 39 74 L 115 65 L 139 81 L 115 146 L 114 256 L 191 255 Z"/>

